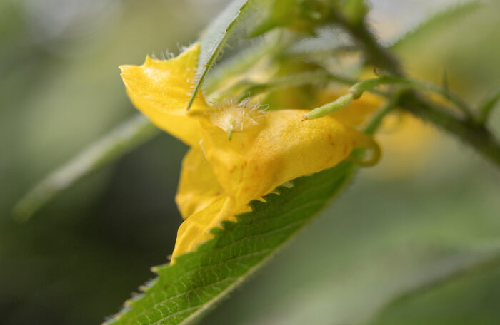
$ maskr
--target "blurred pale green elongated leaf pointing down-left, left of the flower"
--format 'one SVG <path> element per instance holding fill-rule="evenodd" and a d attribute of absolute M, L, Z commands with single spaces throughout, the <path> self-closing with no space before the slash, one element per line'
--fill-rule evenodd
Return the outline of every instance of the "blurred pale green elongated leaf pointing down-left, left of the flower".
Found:
<path fill-rule="evenodd" d="M 36 184 L 14 206 L 14 217 L 21 221 L 28 220 L 36 210 L 59 192 L 158 133 L 159 129 L 143 115 L 138 114 L 127 120 Z"/>

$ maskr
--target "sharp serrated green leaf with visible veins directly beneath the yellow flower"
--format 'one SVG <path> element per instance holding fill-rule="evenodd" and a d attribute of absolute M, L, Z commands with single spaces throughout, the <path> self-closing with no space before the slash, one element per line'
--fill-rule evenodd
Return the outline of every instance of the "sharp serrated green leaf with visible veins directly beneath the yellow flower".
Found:
<path fill-rule="evenodd" d="M 212 229 L 214 238 L 176 264 L 154 267 L 158 274 L 144 294 L 126 301 L 126 308 L 106 324 L 189 324 L 224 298 L 266 262 L 346 184 L 356 170 L 352 162 L 312 176 L 293 187 L 252 201 L 252 212 Z"/>

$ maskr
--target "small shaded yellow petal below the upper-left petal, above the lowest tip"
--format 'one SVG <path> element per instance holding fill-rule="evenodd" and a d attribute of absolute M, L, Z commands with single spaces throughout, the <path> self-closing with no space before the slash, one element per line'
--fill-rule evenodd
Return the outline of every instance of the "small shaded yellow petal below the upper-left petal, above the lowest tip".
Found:
<path fill-rule="evenodd" d="M 176 203 L 184 219 L 203 210 L 224 195 L 209 162 L 200 148 L 191 148 L 184 157 Z"/>

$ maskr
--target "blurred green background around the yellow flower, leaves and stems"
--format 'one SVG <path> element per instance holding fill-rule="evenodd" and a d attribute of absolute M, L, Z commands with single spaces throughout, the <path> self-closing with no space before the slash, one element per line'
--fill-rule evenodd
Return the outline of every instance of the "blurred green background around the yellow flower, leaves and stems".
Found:
<path fill-rule="evenodd" d="M 454 2 L 372 1 L 371 21 L 390 43 Z M 166 262 L 181 222 L 174 194 L 187 149 L 169 135 L 95 172 L 29 222 L 15 222 L 11 208 L 136 113 L 120 64 L 177 53 L 226 3 L 0 1 L 1 324 L 99 324 L 153 276 L 149 267 Z M 406 68 L 436 82 L 446 70 L 450 88 L 479 103 L 500 86 L 498 12 L 491 1 L 419 35 L 399 48 Z M 500 324 L 500 268 L 380 313 L 443 261 L 500 244 L 500 173 L 441 133 L 415 157 L 424 164 L 399 177 L 363 170 L 201 324 Z"/>

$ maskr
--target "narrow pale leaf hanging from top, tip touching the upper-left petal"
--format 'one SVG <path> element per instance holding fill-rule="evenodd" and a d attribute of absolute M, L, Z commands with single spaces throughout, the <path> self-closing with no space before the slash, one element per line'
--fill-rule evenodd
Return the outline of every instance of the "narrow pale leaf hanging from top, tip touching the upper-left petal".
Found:
<path fill-rule="evenodd" d="M 224 11 L 217 16 L 212 23 L 201 33 L 199 42 L 201 43 L 201 52 L 198 61 L 198 80 L 194 86 L 187 109 L 191 108 L 196 94 L 206 77 L 206 73 L 214 66 L 215 61 L 221 55 L 222 48 L 230 33 L 232 33 L 238 24 L 244 19 L 244 11 L 250 0 L 234 0 L 226 7 Z"/>

